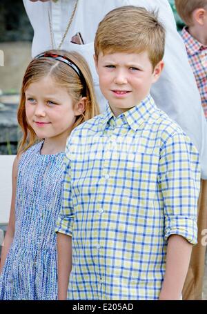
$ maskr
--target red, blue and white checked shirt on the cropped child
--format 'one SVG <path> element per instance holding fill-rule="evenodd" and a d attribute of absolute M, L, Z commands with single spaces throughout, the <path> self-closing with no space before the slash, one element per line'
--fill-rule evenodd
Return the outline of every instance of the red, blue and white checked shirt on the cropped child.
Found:
<path fill-rule="evenodd" d="M 184 39 L 188 60 L 193 68 L 197 87 L 201 95 L 201 104 L 207 119 L 207 46 L 203 46 L 191 36 L 186 27 L 181 31 L 181 37 Z"/>

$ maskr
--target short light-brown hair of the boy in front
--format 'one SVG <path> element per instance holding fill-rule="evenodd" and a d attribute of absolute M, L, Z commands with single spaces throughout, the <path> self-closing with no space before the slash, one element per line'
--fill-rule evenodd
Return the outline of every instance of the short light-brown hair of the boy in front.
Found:
<path fill-rule="evenodd" d="M 115 52 L 148 52 L 154 69 L 164 57 L 165 30 L 157 13 L 123 6 L 106 14 L 95 36 L 95 55 Z"/>

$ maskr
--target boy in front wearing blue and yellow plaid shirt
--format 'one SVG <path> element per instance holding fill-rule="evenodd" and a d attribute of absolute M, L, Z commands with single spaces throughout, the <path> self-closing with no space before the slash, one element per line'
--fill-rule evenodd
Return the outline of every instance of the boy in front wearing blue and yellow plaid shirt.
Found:
<path fill-rule="evenodd" d="M 149 95 L 164 44 L 144 8 L 117 8 L 99 23 L 95 64 L 109 106 L 68 139 L 59 300 L 67 290 L 72 300 L 181 297 L 197 238 L 199 157 Z"/>

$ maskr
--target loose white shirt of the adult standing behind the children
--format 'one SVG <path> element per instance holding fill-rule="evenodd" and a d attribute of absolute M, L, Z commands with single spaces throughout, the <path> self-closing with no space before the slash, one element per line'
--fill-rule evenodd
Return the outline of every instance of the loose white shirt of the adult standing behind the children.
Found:
<path fill-rule="evenodd" d="M 32 57 L 52 48 L 48 12 L 57 48 L 70 20 L 76 0 L 32 2 L 23 0 L 26 12 L 34 29 Z M 201 158 L 201 177 L 207 179 L 207 123 L 193 71 L 188 63 L 184 43 L 179 36 L 172 10 L 167 0 L 79 0 L 75 16 L 61 48 L 80 52 L 86 58 L 92 72 L 97 99 L 101 111 L 106 108 L 106 99 L 99 90 L 99 80 L 93 61 L 93 39 L 99 21 L 106 13 L 119 6 L 142 6 L 147 10 L 159 10 L 159 19 L 166 28 L 165 67 L 151 95 L 161 110 L 183 128 L 197 147 Z M 70 43 L 73 35 L 81 32 L 84 45 Z"/>

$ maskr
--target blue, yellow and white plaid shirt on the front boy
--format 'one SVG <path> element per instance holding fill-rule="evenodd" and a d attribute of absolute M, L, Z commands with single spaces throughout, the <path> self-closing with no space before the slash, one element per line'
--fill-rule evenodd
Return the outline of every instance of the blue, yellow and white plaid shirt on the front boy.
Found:
<path fill-rule="evenodd" d="M 156 300 L 172 234 L 197 242 L 199 155 L 149 96 L 73 130 L 56 232 L 72 235 L 68 299 Z"/>

